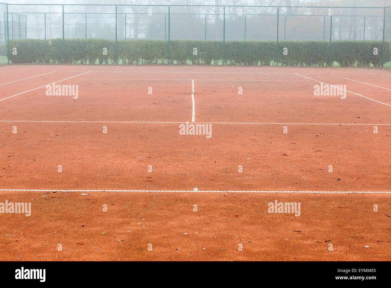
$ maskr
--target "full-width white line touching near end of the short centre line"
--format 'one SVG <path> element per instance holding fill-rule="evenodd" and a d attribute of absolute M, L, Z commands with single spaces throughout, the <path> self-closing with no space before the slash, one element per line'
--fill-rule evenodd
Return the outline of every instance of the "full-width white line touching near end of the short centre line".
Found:
<path fill-rule="evenodd" d="M 0 122 L 48 122 L 48 123 L 165 123 L 165 124 L 183 124 L 185 122 L 174 121 L 50 121 L 50 120 L 0 120 Z M 369 126 L 391 126 L 391 124 L 366 124 L 366 123 L 262 123 L 262 122 L 194 122 L 195 124 L 251 124 L 251 125 L 369 125 Z"/>

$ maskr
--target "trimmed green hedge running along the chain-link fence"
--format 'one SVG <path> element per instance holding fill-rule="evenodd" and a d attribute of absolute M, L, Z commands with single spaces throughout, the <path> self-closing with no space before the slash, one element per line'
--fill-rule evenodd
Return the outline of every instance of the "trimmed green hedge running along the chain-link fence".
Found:
<path fill-rule="evenodd" d="M 228 65 L 276 65 L 276 41 L 226 41 Z M 330 44 L 325 41 L 279 41 L 278 64 L 289 66 L 328 66 Z M 17 54 L 13 55 L 13 47 Z M 103 54 L 103 48 L 107 55 Z M 194 48 L 197 54 L 194 55 Z M 378 55 L 373 54 L 374 48 Z M 69 64 L 115 64 L 115 41 L 104 39 L 66 39 L 64 59 Z M 286 48 L 286 49 L 284 49 Z M 62 63 L 63 40 L 22 39 L 9 41 L 12 63 Z M 284 53 L 285 51 L 285 53 Z M 384 43 L 384 62 L 391 60 L 390 43 Z M 119 40 L 119 64 L 167 64 L 168 41 Z M 218 65 L 223 61 L 222 41 L 170 40 L 170 64 Z M 332 62 L 341 66 L 379 67 L 381 41 L 332 42 Z"/>

